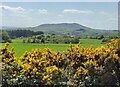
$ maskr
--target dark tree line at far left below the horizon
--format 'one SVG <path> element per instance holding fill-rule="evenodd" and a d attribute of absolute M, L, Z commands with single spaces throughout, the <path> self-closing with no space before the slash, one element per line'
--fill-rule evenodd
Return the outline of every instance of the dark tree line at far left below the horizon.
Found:
<path fill-rule="evenodd" d="M 0 36 L 2 37 L 0 42 L 11 42 L 11 39 L 19 37 L 31 37 L 33 35 L 44 34 L 42 31 L 31 31 L 31 30 L 1 30 Z"/>

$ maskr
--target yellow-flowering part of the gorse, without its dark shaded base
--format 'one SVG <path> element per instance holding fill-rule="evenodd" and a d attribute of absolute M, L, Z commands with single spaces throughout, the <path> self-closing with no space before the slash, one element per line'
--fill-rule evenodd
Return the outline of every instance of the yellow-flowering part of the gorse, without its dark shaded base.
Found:
<path fill-rule="evenodd" d="M 31 52 L 25 52 L 21 58 L 15 60 L 14 49 L 8 50 L 9 43 L 1 49 L 2 64 L 12 64 L 18 69 L 7 70 L 2 66 L 3 71 L 12 73 L 11 75 L 24 75 L 27 79 L 36 79 L 42 84 L 50 84 L 61 78 L 67 81 L 75 82 L 76 84 L 84 79 L 85 76 L 94 74 L 102 74 L 106 72 L 109 67 L 108 61 L 113 63 L 120 63 L 120 56 L 118 54 L 118 42 L 120 39 L 112 40 L 108 43 L 108 47 L 93 47 L 81 48 L 80 43 L 70 47 L 64 53 L 53 52 L 46 48 L 45 52 L 40 49 L 33 49 Z M 108 64 L 108 65 L 107 65 Z M 114 68 L 113 68 L 114 69 Z M 116 75 L 115 70 L 111 70 L 113 75 Z"/>

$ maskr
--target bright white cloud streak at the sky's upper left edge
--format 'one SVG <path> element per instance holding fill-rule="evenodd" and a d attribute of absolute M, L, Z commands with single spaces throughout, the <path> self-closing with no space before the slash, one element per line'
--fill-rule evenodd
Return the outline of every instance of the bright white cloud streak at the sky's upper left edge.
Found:
<path fill-rule="evenodd" d="M 0 9 L 2 9 L 3 11 L 10 11 L 10 12 L 15 12 L 15 13 L 25 12 L 25 9 L 22 7 L 10 7 L 6 5 L 0 5 Z"/>

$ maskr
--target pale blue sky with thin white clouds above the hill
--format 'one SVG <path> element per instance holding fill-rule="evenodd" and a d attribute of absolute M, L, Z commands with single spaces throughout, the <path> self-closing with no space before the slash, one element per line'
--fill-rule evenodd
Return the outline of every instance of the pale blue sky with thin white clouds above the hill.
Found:
<path fill-rule="evenodd" d="M 94 28 L 118 29 L 117 2 L 3 2 L 0 26 L 34 27 L 41 24 L 79 23 Z"/>

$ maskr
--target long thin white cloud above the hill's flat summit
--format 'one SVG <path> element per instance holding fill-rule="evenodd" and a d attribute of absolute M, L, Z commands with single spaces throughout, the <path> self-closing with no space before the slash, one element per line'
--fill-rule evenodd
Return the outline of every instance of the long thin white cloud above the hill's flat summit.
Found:
<path fill-rule="evenodd" d="M 64 9 L 63 13 L 81 13 L 81 14 L 91 14 L 94 13 L 90 10 L 78 10 L 78 9 Z"/>

